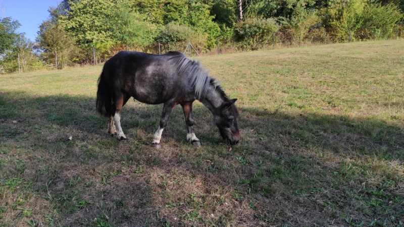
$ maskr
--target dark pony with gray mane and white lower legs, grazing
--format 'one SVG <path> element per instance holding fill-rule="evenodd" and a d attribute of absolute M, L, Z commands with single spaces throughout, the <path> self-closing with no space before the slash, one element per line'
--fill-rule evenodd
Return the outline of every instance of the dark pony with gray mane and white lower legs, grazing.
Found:
<path fill-rule="evenodd" d="M 227 97 L 218 81 L 210 77 L 199 62 L 181 52 L 159 55 L 121 51 L 105 63 L 98 78 L 96 109 L 110 118 L 108 131 L 118 140 L 127 139 L 121 127 L 121 109 L 131 97 L 146 104 L 164 103 L 153 145 L 160 144 L 170 114 L 180 104 L 185 116 L 186 140 L 200 146 L 193 131 L 192 103 L 195 100 L 212 112 L 226 144 L 234 145 L 240 140 L 239 113 L 234 105 L 237 99 Z"/>

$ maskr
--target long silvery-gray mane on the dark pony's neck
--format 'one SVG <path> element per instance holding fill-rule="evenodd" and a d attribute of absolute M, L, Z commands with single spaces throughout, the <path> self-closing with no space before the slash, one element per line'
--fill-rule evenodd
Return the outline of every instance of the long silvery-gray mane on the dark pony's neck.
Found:
<path fill-rule="evenodd" d="M 178 74 L 188 74 L 187 78 L 194 87 L 196 99 L 205 97 L 211 84 L 214 86 L 214 89 L 217 87 L 220 88 L 219 82 L 215 78 L 210 77 L 209 72 L 198 61 L 192 61 L 180 52 L 169 53 L 173 54 L 171 60 L 176 64 Z"/>

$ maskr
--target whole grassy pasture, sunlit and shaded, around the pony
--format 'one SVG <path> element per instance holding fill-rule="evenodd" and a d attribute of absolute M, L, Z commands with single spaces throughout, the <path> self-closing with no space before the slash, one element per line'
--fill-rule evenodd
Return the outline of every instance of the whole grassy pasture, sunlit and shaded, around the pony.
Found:
<path fill-rule="evenodd" d="M 403 226 L 404 42 L 205 56 L 236 102 L 242 141 L 220 142 L 195 102 L 129 101 L 107 133 L 101 66 L 0 76 L 0 226 Z"/>

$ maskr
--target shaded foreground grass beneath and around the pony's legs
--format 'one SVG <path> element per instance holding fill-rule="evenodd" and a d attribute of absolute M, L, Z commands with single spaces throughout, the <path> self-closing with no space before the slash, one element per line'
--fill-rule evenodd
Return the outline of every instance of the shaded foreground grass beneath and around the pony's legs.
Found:
<path fill-rule="evenodd" d="M 196 104 L 203 146 L 185 141 L 176 108 L 156 150 L 150 141 L 161 105 L 128 102 L 124 143 L 108 135 L 108 120 L 94 105 L 89 97 L 1 93 L 0 187 L 7 196 L 0 201 L 8 217 L 2 221 L 268 226 L 376 219 L 394 225 L 404 215 L 404 136 L 392 123 L 241 106 L 242 141 L 230 149 L 220 143 L 211 113 Z M 10 179 L 23 183 L 13 186 Z"/>

